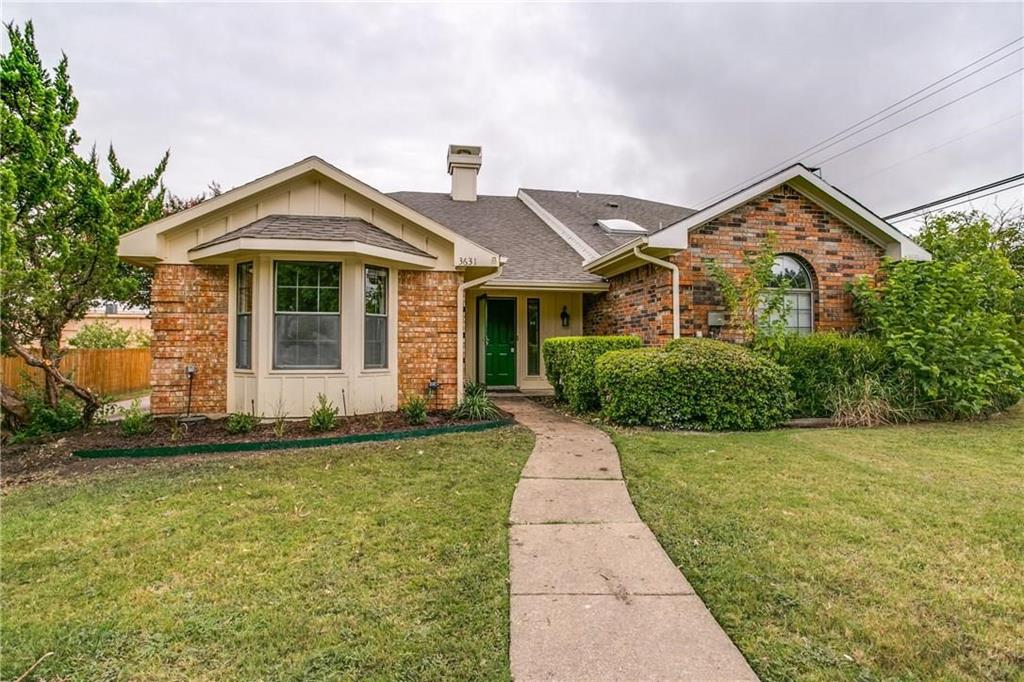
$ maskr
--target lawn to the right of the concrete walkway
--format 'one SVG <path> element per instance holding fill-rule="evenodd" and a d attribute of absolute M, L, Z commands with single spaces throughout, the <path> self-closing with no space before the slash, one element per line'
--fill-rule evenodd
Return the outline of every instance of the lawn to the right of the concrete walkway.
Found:
<path fill-rule="evenodd" d="M 641 517 L 763 679 L 1024 679 L 1024 411 L 614 437 Z"/>

